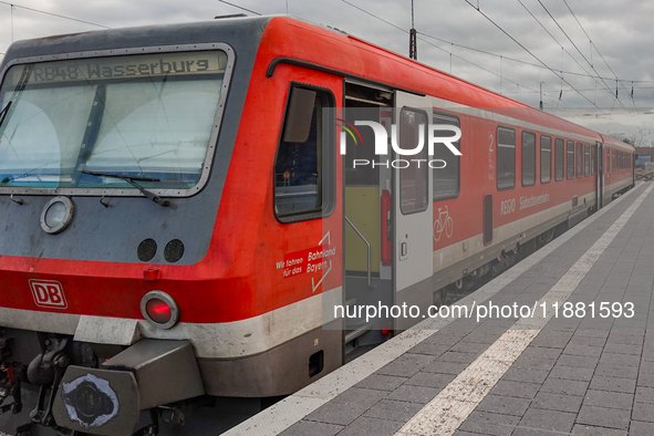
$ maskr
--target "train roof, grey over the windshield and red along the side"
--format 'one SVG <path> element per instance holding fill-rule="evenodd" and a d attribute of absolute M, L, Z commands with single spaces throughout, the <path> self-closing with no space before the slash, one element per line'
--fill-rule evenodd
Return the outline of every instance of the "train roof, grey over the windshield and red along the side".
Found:
<path fill-rule="evenodd" d="M 110 29 L 23 40 L 11 44 L 0 65 L 0 71 L 18 58 L 211 42 L 228 42 L 233 45 L 241 66 L 243 60 L 245 64 L 253 65 L 256 56 L 263 56 L 264 68 L 280 58 L 302 60 L 361 77 L 364 81 L 384 83 L 390 87 L 438 95 L 444 100 L 445 107 L 448 102 L 453 102 L 464 107 L 487 108 L 523 122 L 573 133 L 586 137 L 588 141 L 605 142 L 633 150 L 625 143 L 499 95 L 338 29 L 289 15 L 225 18 L 195 23 Z"/>

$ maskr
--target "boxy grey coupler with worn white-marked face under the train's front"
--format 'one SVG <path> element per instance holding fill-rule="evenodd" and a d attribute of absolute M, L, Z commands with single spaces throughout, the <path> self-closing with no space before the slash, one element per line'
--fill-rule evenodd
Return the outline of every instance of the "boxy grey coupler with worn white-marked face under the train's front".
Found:
<path fill-rule="evenodd" d="M 141 411 L 204 394 L 189 341 L 142 340 L 100 368 L 70 365 L 52 413 L 60 427 L 131 436 Z"/>

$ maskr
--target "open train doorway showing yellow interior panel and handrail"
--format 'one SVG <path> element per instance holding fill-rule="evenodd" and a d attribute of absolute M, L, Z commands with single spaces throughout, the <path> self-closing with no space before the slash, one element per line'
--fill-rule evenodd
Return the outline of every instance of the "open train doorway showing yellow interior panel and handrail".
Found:
<path fill-rule="evenodd" d="M 392 173 L 387 155 L 376 154 L 375 128 L 392 122 L 393 92 L 345 81 L 343 116 L 344 289 L 346 360 L 381 343 L 392 330 L 387 314 L 360 308 L 393 304 Z M 372 316 L 366 316 L 367 314 Z"/>

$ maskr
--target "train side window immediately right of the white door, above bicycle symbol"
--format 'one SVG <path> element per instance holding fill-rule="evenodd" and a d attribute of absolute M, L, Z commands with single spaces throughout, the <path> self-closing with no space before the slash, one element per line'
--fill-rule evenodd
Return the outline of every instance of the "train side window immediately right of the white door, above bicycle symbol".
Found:
<path fill-rule="evenodd" d="M 460 126 L 459 118 L 450 114 L 434 113 L 434 124 L 450 124 Z M 451 132 L 438 132 L 436 136 L 448 136 Z M 453 144 L 457 149 L 461 149 L 460 141 Z M 434 147 L 434 159 L 445 160 L 445 168 L 434 168 L 432 170 L 434 186 L 434 201 L 456 198 L 459 195 L 460 186 L 460 156 L 455 156 L 445 145 L 436 144 Z"/>

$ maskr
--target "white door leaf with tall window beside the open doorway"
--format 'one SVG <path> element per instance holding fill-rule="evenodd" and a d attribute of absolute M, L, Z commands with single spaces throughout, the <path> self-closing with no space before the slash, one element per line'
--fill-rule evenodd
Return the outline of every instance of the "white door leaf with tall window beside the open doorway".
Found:
<path fill-rule="evenodd" d="M 426 308 L 433 303 L 434 273 L 433 176 L 427 146 L 432 101 L 397 91 L 393 115 L 397 146 L 403 152 L 393 150 L 392 157 L 394 299 L 396 305 L 418 305 L 421 313 L 426 313 Z M 421 137 L 423 147 L 417 150 Z M 394 329 L 405 330 L 416 321 L 411 316 L 395 318 Z"/>

